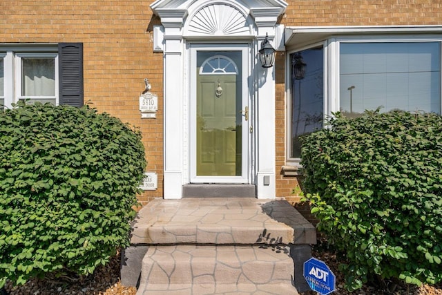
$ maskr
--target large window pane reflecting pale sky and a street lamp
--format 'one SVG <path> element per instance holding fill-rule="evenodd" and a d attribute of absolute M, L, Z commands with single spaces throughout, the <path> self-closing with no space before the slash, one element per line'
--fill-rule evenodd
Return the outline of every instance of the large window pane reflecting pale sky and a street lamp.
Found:
<path fill-rule="evenodd" d="M 339 49 L 344 115 L 378 107 L 441 113 L 440 42 L 341 42 Z"/>

